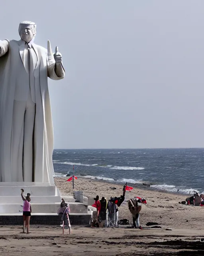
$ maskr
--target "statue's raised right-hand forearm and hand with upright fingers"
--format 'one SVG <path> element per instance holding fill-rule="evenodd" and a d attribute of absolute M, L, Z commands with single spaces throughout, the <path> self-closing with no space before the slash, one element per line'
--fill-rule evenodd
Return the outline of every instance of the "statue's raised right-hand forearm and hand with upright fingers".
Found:
<path fill-rule="evenodd" d="M 47 42 L 47 69 L 49 78 L 53 80 L 60 80 L 65 77 L 62 55 L 58 52 L 58 47 L 55 48 L 55 54 L 52 54 L 49 40 Z"/>

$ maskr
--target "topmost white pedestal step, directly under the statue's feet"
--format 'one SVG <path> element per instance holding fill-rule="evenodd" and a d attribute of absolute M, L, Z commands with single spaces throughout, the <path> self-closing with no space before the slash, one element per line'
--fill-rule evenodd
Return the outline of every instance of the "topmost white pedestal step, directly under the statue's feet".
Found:
<path fill-rule="evenodd" d="M 55 186 L 0 186 L 0 196 L 20 195 L 21 188 L 24 189 L 25 195 L 30 193 L 31 196 L 55 196 L 58 194 Z"/>

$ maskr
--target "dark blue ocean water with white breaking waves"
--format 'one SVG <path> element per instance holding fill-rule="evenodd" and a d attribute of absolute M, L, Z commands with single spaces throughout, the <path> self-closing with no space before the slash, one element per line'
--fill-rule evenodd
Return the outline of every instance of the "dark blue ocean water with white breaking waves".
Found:
<path fill-rule="evenodd" d="M 87 149 L 54 150 L 55 176 L 131 184 L 182 194 L 204 191 L 204 149 Z"/>

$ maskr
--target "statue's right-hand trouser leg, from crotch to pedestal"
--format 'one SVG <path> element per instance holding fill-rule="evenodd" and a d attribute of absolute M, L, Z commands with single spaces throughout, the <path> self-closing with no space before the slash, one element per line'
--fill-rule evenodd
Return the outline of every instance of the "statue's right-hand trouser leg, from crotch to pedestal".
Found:
<path fill-rule="evenodd" d="M 33 181 L 33 160 L 34 160 L 34 147 L 33 135 L 35 124 L 35 103 L 31 100 L 29 93 L 26 102 L 26 112 L 24 118 L 24 181 Z"/>

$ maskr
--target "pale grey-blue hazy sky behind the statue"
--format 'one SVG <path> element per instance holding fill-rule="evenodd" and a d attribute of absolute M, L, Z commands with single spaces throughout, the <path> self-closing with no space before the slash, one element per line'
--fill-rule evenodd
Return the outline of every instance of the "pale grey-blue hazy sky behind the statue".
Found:
<path fill-rule="evenodd" d="M 204 1 L 10 0 L 0 39 L 59 46 L 55 148 L 204 147 Z"/>

